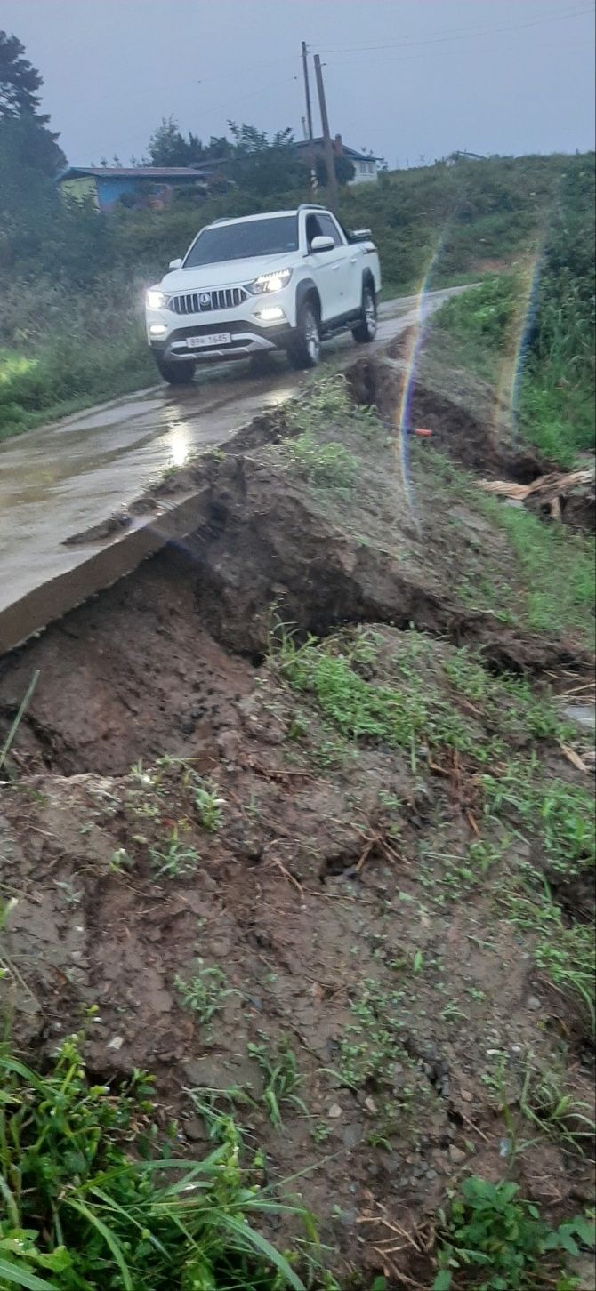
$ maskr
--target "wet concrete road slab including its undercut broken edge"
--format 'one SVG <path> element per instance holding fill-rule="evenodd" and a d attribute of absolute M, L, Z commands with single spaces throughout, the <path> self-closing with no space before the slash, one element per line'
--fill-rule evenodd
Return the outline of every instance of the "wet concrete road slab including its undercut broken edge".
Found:
<path fill-rule="evenodd" d="M 429 311 L 463 288 L 433 292 Z M 379 349 L 416 319 L 416 297 L 380 309 Z M 327 361 L 353 360 L 352 338 L 326 346 Z M 136 568 L 197 523 L 195 501 L 97 546 L 65 540 L 129 505 L 171 466 L 225 444 L 257 413 L 291 399 L 304 376 L 275 359 L 271 374 L 244 365 L 204 369 L 189 389 L 154 386 L 0 445 L 0 653 Z"/>

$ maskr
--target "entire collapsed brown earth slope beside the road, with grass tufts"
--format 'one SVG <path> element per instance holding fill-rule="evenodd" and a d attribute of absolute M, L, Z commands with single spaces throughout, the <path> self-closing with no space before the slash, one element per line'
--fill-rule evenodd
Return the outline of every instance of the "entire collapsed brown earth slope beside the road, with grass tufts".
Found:
<path fill-rule="evenodd" d="M 474 487 L 552 463 L 432 355 L 405 444 L 402 346 L 169 475 L 190 538 L 1 661 L 0 988 L 41 1062 L 97 1006 L 178 1150 L 231 1113 L 341 1286 L 429 1288 L 467 1174 L 591 1203 L 593 656 Z"/>

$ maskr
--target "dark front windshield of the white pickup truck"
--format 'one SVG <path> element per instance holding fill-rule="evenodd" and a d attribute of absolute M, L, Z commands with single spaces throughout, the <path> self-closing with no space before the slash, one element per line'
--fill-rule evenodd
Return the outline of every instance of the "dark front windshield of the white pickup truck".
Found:
<path fill-rule="evenodd" d="M 246 223 L 204 229 L 190 248 L 184 269 L 217 265 L 222 259 L 247 259 L 252 256 L 283 256 L 290 250 L 297 250 L 297 216 L 250 219 Z"/>

